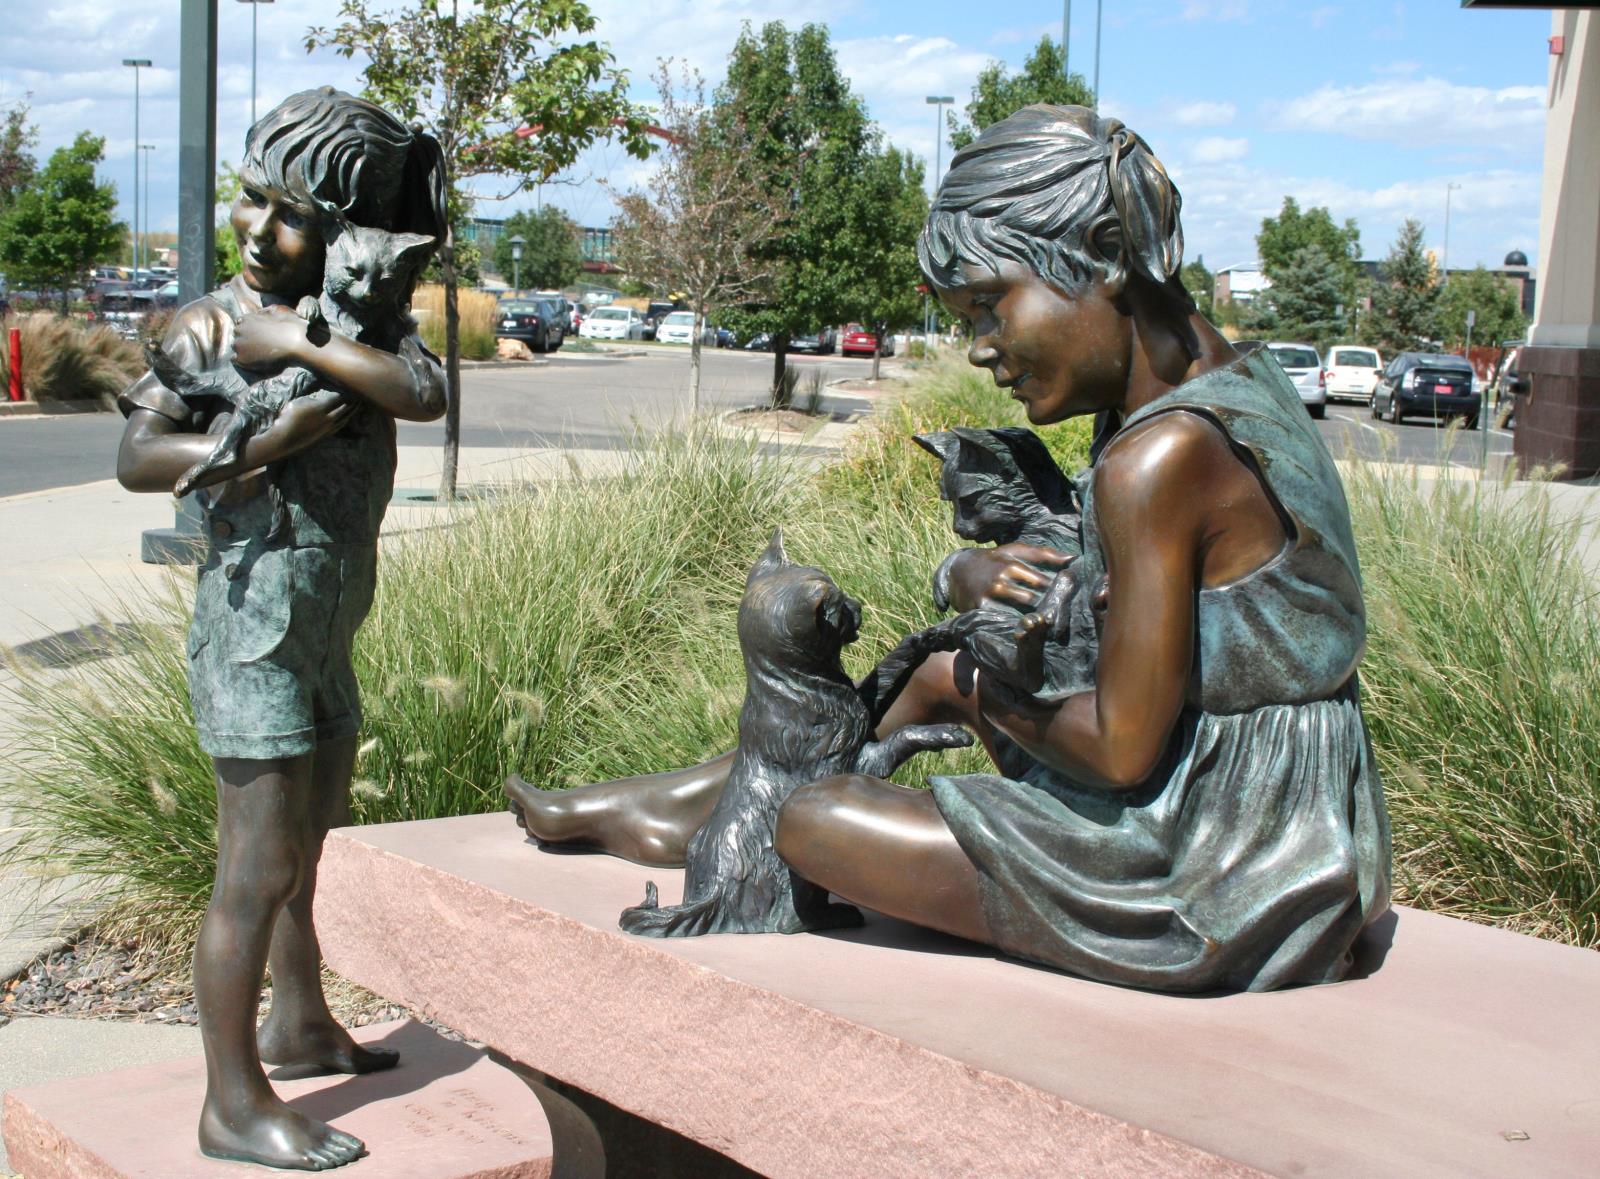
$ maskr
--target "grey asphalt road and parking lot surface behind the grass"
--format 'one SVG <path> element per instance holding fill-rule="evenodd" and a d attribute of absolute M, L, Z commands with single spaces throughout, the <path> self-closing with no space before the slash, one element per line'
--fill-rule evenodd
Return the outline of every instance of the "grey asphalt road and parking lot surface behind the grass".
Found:
<path fill-rule="evenodd" d="M 867 376 L 869 360 L 795 357 L 824 381 Z M 739 408 L 763 400 L 771 379 L 765 354 L 706 352 L 701 382 L 704 408 Z M 576 357 L 557 354 L 549 365 L 467 370 L 462 378 L 464 446 L 576 446 L 610 450 L 627 445 L 635 426 L 659 426 L 690 411 L 688 352 L 648 350 L 642 357 Z M 1504 430 L 1458 430 L 1442 454 L 1446 430 L 1427 419 L 1395 427 L 1376 422 L 1365 405 L 1333 405 L 1318 424 L 1336 456 L 1438 462 L 1448 458 L 1475 466 L 1488 442 L 1491 464 L 1510 453 Z M 115 470 L 122 418 L 70 414 L 0 418 L 0 498 L 107 478 Z M 400 442 L 442 446 L 443 422 L 402 422 Z"/>

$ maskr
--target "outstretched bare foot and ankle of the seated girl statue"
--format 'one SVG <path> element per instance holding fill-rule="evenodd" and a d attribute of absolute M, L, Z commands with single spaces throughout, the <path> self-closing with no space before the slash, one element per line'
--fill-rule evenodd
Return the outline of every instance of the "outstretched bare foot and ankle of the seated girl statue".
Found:
<path fill-rule="evenodd" d="M 598 848 L 646 867 L 683 867 L 690 837 L 722 797 L 733 753 L 688 769 L 619 777 L 571 790 L 506 779 L 517 824 L 546 845 Z"/>

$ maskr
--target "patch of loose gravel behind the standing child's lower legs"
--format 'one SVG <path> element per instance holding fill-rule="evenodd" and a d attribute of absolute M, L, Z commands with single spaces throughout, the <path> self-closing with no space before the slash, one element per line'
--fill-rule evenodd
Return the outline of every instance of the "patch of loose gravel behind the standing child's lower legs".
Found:
<path fill-rule="evenodd" d="M 346 1027 L 418 1019 L 454 1040 L 461 1037 L 419 1013 L 323 973 L 323 992 L 334 1017 Z M 266 1016 L 272 989 L 261 995 Z M 67 1016 L 72 1019 L 128 1019 L 141 1024 L 195 1024 L 194 987 L 187 973 L 174 977 L 138 942 L 104 941 L 86 933 L 64 949 L 29 963 L 0 993 L 0 1025 L 13 1014 Z"/>

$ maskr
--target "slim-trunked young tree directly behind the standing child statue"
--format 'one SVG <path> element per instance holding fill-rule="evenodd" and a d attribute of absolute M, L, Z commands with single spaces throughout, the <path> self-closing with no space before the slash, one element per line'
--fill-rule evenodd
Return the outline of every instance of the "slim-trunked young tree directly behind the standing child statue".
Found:
<path fill-rule="evenodd" d="M 306 34 L 306 51 L 362 53 L 365 94 L 434 134 L 445 157 L 450 224 L 470 208 L 464 181 L 498 176 L 514 195 L 570 168 L 589 144 L 619 134 L 645 158 L 645 117 L 627 99 L 627 74 L 584 37 L 595 18 L 582 0 L 414 0 L 373 13 L 373 0 L 341 0 L 339 24 Z M 466 10 L 466 11 L 462 11 Z M 461 450 L 461 310 L 456 246 L 438 250 L 445 286 L 445 462 L 440 494 L 456 496 Z"/>

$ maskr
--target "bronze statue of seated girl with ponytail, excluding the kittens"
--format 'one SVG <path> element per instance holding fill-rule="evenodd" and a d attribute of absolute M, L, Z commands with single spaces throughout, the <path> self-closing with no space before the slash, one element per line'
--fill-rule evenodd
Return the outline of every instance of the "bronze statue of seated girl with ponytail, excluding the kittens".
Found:
<path fill-rule="evenodd" d="M 1272 357 L 1235 352 L 1179 283 L 1178 213 L 1144 141 L 1082 107 L 1029 107 L 957 154 L 918 248 L 968 358 L 1034 424 L 1101 416 L 1054 560 L 1096 600 L 1093 675 L 1019 691 L 941 624 L 955 649 L 920 662 L 880 731 L 966 725 L 998 773 L 802 785 L 776 849 L 845 901 L 1090 979 L 1328 982 L 1390 875 L 1349 509 Z M 1018 608 L 1013 640 L 1037 645 L 1046 554 L 965 549 L 949 600 Z M 539 840 L 667 864 L 725 773 L 509 789 Z"/>

